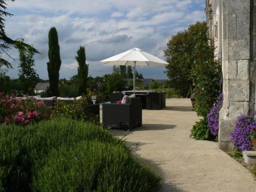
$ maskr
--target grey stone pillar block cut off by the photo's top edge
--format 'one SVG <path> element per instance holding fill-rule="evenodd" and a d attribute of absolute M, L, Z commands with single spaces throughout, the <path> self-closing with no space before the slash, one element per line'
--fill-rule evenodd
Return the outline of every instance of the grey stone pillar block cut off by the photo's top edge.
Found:
<path fill-rule="evenodd" d="M 227 13 L 250 13 L 250 0 L 229 0 Z"/>

